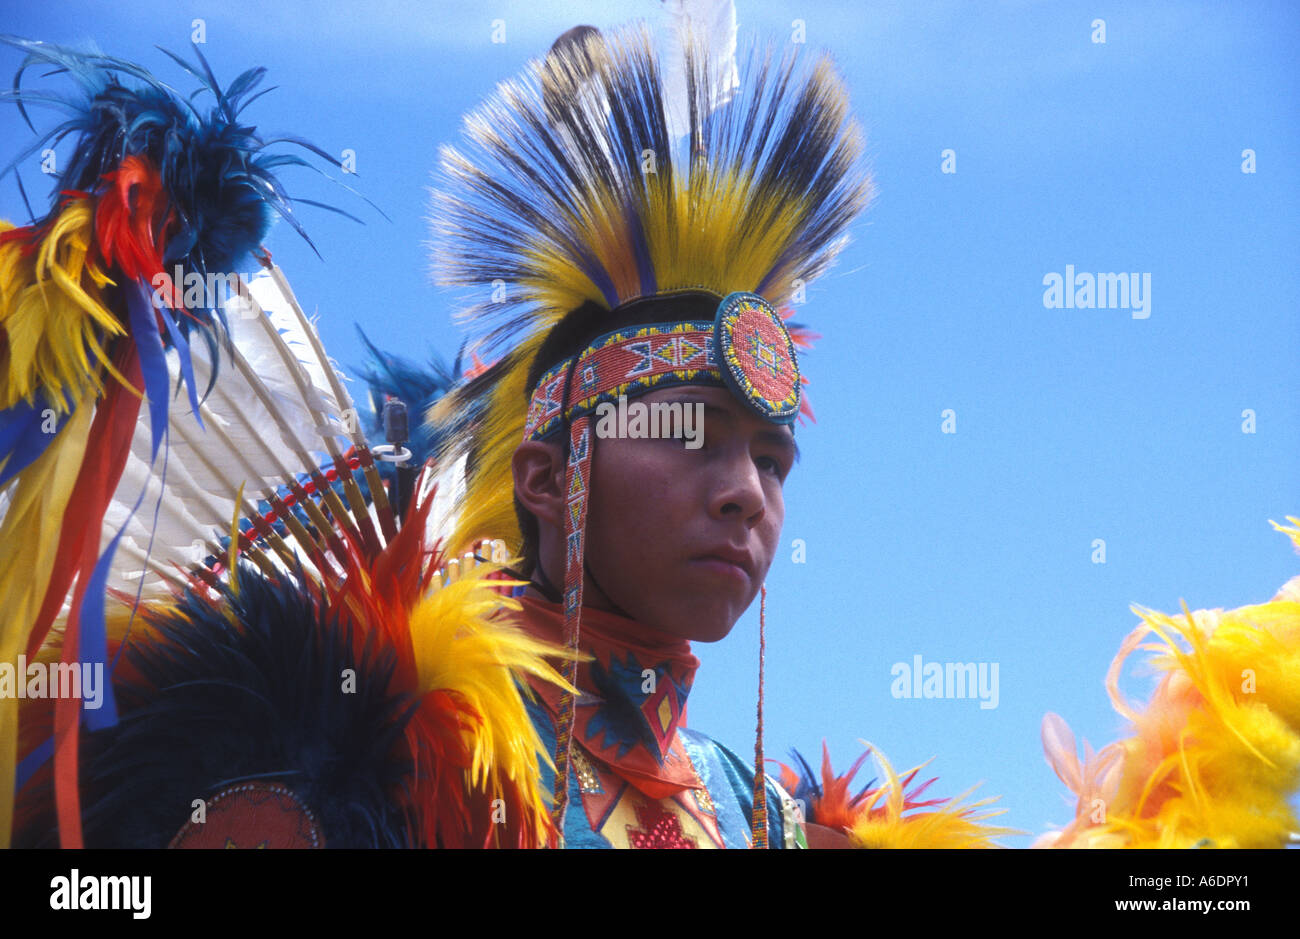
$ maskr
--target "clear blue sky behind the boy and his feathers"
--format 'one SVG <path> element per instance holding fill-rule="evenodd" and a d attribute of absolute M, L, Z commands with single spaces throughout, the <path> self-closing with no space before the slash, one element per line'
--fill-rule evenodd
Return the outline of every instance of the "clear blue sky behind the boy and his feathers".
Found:
<path fill-rule="evenodd" d="M 658 17 L 653 0 L 467 4 L 0 1 L 0 31 L 94 40 L 187 87 L 153 49 L 204 52 L 229 82 L 280 90 L 266 131 L 356 152 L 350 182 L 290 192 L 316 258 L 286 226 L 268 246 L 320 311 L 346 371 L 352 324 L 412 356 L 460 342 L 428 273 L 426 187 L 439 143 L 494 83 L 578 22 Z M 1045 711 L 1095 745 L 1122 722 L 1102 687 L 1131 603 L 1176 611 L 1268 600 L 1300 568 L 1268 520 L 1300 514 L 1300 13 L 1275 3 L 751 3 L 741 36 L 829 48 L 866 129 L 876 199 L 800 319 L 818 423 L 786 484 L 768 588 L 767 750 L 838 765 L 879 745 L 935 757 L 936 791 L 982 783 L 1002 822 L 1070 819 L 1043 760 Z M 491 42 L 504 20 L 506 42 Z M 1093 20 L 1106 42 L 1093 43 Z M 0 75 L 20 56 L 0 49 Z M 744 79 L 744 77 L 742 77 Z M 49 121 L 48 113 L 40 116 Z M 27 130 L 0 112 L 0 150 Z M 1256 172 L 1243 173 L 1243 151 Z M 956 173 L 942 173 L 942 151 Z M 44 199 L 35 166 L 29 192 Z M 38 195 L 39 192 L 39 195 Z M 0 216 L 26 221 L 12 179 Z M 1150 274 L 1147 319 L 1045 308 L 1043 278 Z M 351 369 L 348 368 L 351 367 Z M 942 433 L 945 410 L 956 433 Z M 1256 432 L 1243 433 L 1253 410 Z M 805 544 L 794 563 L 792 542 Z M 1093 540 L 1106 562 L 1092 562 Z M 751 750 L 757 605 L 697 646 L 692 724 Z M 998 663 L 998 706 L 898 700 L 890 667 Z M 1124 683 L 1145 696 L 1152 678 Z M 1024 845 L 1028 838 L 1010 839 Z"/>

